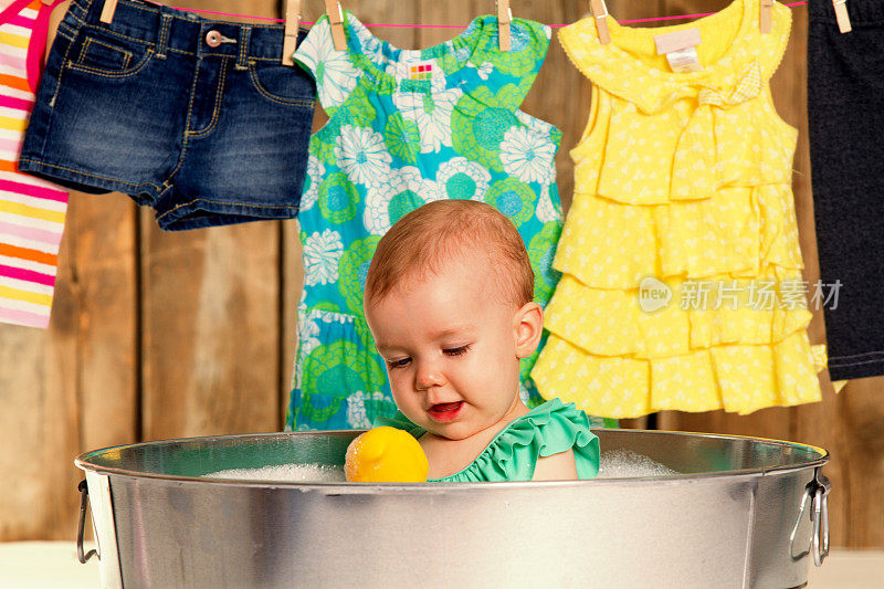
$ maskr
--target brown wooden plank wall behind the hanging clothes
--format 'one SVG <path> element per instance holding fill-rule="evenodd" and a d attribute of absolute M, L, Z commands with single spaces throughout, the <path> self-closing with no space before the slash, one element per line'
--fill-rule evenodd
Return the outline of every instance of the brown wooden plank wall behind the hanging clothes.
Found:
<path fill-rule="evenodd" d="M 180 0 L 175 6 L 259 17 L 277 0 Z M 618 19 L 719 10 L 726 0 L 609 0 Z M 465 24 L 493 0 L 347 0 L 364 22 Z M 305 0 L 314 20 L 322 0 Z M 518 17 L 572 22 L 583 0 L 514 0 Z M 807 11 L 774 81 L 779 112 L 800 132 L 796 202 L 806 277 L 818 276 L 807 145 Z M 402 48 L 429 46 L 453 30 L 378 29 Z M 564 132 L 557 164 L 567 206 L 568 147 L 586 124 L 590 85 L 557 43 L 525 111 Z M 324 123 L 318 112 L 315 126 Z M 185 435 L 278 430 L 294 353 L 301 288 L 297 224 L 257 222 L 185 233 L 157 229 L 126 197 L 72 193 L 52 325 L 0 325 L 0 540 L 71 539 L 81 474 L 73 457 L 105 445 Z M 823 340 L 822 317 L 811 326 Z M 851 382 L 812 407 L 748 417 L 722 412 L 657 417 L 663 429 L 792 439 L 833 454 L 830 519 L 836 546 L 884 547 L 884 393 L 881 379 Z M 646 419 L 632 420 L 642 427 Z"/>

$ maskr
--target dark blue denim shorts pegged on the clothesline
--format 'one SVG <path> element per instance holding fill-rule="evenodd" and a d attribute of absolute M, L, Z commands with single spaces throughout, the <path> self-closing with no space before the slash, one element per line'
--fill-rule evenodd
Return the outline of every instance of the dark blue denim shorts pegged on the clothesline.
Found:
<path fill-rule="evenodd" d="M 103 3 L 73 0 L 62 20 L 19 169 L 125 192 L 166 230 L 296 217 L 316 87 L 281 63 L 283 25 L 137 0 L 105 24 Z"/>

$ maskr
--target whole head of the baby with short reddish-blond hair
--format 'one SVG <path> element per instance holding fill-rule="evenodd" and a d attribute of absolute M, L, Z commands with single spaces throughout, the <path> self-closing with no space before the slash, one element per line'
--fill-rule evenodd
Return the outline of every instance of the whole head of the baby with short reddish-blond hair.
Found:
<path fill-rule="evenodd" d="M 443 200 L 397 222 L 368 270 L 365 312 L 406 417 L 460 440 L 524 410 L 519 359 L 544 320 L 533 299 L 525 244 L 493 207 Z"/>

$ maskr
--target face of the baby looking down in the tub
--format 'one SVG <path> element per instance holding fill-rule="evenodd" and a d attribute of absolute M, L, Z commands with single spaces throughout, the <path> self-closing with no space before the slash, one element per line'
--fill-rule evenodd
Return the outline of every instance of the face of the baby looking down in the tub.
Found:
<path fill-rule="evenodd" d="M 402 413 L 427 431 L 462 440 L 515 411 L 516 313 L 487 266 L 471 260 L 449 262 L 367 305 Z"/>

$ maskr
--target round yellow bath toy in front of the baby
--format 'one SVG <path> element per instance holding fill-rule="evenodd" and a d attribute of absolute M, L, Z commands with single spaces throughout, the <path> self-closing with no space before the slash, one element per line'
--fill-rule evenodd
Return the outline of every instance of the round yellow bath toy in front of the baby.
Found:
<path fill-rule="evenodd" d="M 347 446 L 344 473 L 350 483 L 424 483 L 429 472 L 421 444 L 396 428 L 373 428 Z"/>

